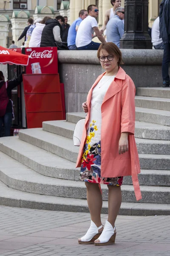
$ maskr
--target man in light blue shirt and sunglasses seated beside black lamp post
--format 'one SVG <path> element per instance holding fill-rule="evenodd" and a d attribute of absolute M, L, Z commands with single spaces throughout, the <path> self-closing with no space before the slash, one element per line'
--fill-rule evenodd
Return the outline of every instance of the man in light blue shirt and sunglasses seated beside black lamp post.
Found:
<path fill-rule="evenodd" d="M 120 47 L 120 39 L 124 34 L 124 8 L 118 7 L 115 10 L 115 16 L 109 20 L 106 26 L 107 41 Z"/>

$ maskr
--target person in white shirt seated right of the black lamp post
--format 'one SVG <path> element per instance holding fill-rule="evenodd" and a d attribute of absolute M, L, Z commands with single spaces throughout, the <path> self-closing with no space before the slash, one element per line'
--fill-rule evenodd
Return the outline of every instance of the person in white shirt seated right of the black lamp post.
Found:
<path fill-rule="evenodd" d="M 162 42 L 162 38 L 159 38 L 159 36 L 160 36 L 159 17 L 157 17 L 156 20 L 153 22 L 153 26 L 152 26 L 152 44 L 156 50 L 164 49 L 164 44 Z"/>

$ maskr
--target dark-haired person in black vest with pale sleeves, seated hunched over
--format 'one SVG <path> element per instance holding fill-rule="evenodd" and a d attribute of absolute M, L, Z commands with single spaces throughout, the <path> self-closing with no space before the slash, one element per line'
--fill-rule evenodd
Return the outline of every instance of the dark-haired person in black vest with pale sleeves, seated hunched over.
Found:
<path fill-rule="evenodd" d="M 55 47 L 57 42 L 62 42 L 62 24 L 64 21 L 64 17 L 59 15 L 55 19 L 45 22 L 40 47 Z"/>

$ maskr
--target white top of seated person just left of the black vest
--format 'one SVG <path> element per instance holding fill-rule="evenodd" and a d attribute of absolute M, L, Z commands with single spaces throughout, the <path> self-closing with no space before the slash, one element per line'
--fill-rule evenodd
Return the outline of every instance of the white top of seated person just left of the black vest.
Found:
<path fill-rule="evenodd" d="M 29 47 L 40 47 L 42 30 L 44 27 L 45 24 L 41 24 L 39 22 L 35 24 L 35 28 L 31 34 L 31 39 L 29 41 Z"/>

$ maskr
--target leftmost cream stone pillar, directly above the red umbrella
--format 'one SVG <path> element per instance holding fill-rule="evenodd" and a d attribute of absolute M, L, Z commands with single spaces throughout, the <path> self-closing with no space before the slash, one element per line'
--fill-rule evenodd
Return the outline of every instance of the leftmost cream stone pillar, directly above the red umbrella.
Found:
<path fill-rule="evenodd" d="M 8 15 L 0 15 L 0 46 L 2 47 L 7 47 L 9 24 Z"/>

